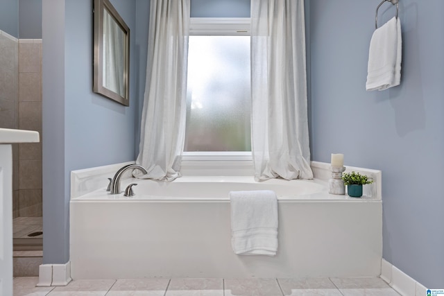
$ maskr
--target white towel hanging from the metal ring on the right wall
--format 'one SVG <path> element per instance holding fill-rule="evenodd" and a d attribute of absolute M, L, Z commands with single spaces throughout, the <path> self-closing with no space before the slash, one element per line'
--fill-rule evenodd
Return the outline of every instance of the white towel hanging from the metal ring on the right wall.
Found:
<path fill-rule="evenodd" d="M 370 41 L 366 89 L 384 90 L 401 82 L 401 21 L 393 17 L 377 28 Z"/>

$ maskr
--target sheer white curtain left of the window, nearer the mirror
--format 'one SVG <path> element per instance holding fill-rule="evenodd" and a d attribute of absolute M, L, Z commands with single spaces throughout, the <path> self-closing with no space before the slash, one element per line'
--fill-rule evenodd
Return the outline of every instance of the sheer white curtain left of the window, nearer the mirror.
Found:
<path fill-rule="evenodd" d="M 137 177 L 180 177 L 185 139 L 189 0 L 151 0 Z"/>

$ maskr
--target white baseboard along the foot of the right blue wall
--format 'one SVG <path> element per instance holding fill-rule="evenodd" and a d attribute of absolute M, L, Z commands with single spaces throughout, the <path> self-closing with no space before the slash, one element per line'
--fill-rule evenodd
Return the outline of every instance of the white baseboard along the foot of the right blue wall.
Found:
<path fill-rule="evenodd" d="M 409 277 L 384 258 L 381 260 L 381 279 L 403 296 L 426 295 L 427 288 L 425 286 L 422 286 L 418 281 Z"/>

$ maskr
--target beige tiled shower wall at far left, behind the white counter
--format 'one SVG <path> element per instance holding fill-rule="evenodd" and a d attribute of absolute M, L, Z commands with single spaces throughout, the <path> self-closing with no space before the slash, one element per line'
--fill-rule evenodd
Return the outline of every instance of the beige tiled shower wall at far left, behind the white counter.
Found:
<path fill-rule="evenodd" d="M 40 132 L 12 146 L 13 217 L 42 216 L 42 40 L 0 31 L 0 128 Z"/>

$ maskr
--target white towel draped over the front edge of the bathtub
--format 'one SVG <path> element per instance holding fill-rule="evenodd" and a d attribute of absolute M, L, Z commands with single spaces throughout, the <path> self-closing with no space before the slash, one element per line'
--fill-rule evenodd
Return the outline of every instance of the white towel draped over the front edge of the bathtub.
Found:
<path fill-rule="evenodd" d="M 231 245 L 235 254 L 275 256 L 278 199 L 273 191 L 231 191 Z"/>

